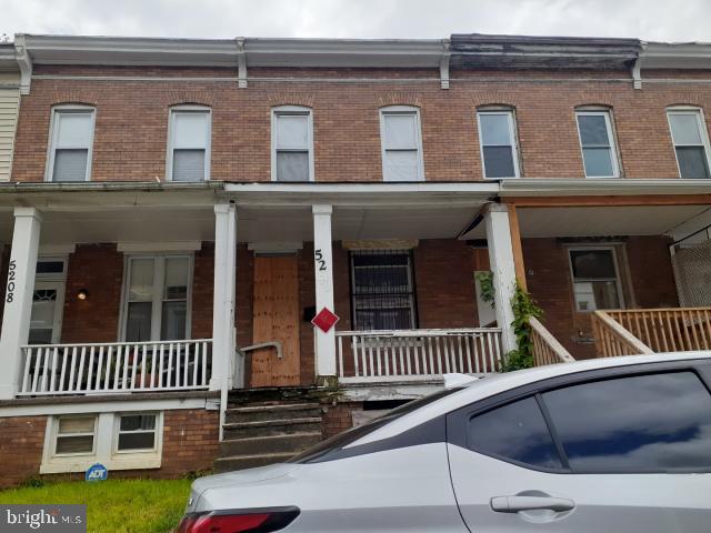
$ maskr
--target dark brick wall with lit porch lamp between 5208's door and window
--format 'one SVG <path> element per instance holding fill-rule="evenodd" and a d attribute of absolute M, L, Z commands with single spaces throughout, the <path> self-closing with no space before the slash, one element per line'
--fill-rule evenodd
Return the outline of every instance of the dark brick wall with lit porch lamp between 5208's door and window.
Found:
<path fill-rule="evenodd" d="M 80 244 L 69 255 L 61 342 L 116 342 L 123 254 L 116 244 Z M 88 298 L 77 293 L 86 289 Z"/>

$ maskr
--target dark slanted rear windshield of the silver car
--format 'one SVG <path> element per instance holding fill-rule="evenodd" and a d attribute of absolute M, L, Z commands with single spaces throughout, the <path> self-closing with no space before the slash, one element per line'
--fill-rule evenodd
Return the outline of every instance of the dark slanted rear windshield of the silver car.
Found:
<path fill-rule="evenodd" d="M 444 389 L 442 391 L 438 391 L 433 394 L 427 395 L 419 400 L 413 400 L 411 402 L 405 403 L 404 405 L 400 405 L 399 408 L 389 411 L 387 414 L 379 416 L 365 424 L 359 425 L 357 428 L 352 428 L 343 433 L 339 433 L 331 439 L 328 439 L 313 447 L 300 453 L 299 455 L 289 460 L 290 463 L 311 463 L 318 462 L 319 459 L 324 455 L 331 453 L 334 450 L 340 450 L 349 444 L 358 441 L 359 439 L 372 433 L 375 430 L 379 430 L 383 425 L 392 422 L 393 420 L 398 420 L 401 416 L 404 416 L 408 413 L 417 411 L 418 409 L 428 405 L 432 402 L 435 402 L 444 396 L 448 396 L 454 392 L 459 392 L 463 386 L 457 386 L 452 389 Z"/>

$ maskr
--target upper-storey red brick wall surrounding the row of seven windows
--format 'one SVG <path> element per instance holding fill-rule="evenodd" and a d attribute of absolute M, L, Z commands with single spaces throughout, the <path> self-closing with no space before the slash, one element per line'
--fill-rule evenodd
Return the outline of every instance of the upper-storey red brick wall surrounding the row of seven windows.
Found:
<path fill-rule="evenodd" d="M 234 76 L 230 69 L 43 67 L 37 73 Z M 425 177 L 430 181 L 471 181 L 482 177 L 475 108 L 515 108 L 523 175 L 582 178 L 574 108 L 604 104 L 613 110 L 622 168 L 629 178 L 678 175 L 664 109 L 675 103 L 711 105 L 711 86 L 648 83 L 634 90 L 629 72 L 487 72 L 454 71 L 451 89 L 439 82 L 407 83 L 398 77 L 435 78 L 431 71 L 261 70 L 259 76 L 388 77 L 382 83 L 230 82 L 110 83 L 89 80 L 33 80 L 22 98 L 13 179 L 41 181 L 44 173 L 50 109 L 66 102 L 97 107 L 92 180 L 153 180 L 166 172 L 169 107 L 199 103 L 212 108 L 212 179 L 270 180 L 270 109 L 308 105 L 314 112 L 314 161 L 318 181 L 380 181 L 379 108 L 417 105 L 421 110 Z M 664 72 L 689 78 L 688 72 Z M 708 73 L 704 73 L 708 76 Z M 574 81 L 578 77 L 580 81 Z M 504 81 L 515 78 L 517 82 Z M 582 79 L 585 78 L 583 81 Z M 599 79 L 599 82 L 590 79 Z M 610 81 L 622 78 L 624 82 Z M 571 81 L 572 79 L 572 81 Z M 531 80 L 530 82 L 528 80 Z M 535 81 L 533 81 L 535 80 Z M 548 81 L 547 81 L 548 80 Z M 705 113 L 707 121 L 711 113 Z M 348 169 L 344 171 L 344 169 Z"/>

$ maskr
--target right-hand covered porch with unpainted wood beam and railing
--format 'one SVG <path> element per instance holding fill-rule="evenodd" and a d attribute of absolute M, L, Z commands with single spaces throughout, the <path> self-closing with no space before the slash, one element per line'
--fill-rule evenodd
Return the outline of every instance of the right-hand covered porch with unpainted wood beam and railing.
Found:
<path fill-rule="evenodd" d="M 575 359 L 711 349 L 709 184 L 552 181 L 502 189 L 520 271 L 562 348 Z"/>

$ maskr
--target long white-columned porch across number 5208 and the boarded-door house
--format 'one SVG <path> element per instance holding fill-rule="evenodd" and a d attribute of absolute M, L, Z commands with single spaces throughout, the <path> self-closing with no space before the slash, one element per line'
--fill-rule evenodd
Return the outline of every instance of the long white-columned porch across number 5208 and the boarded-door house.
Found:
<path fill-rule="evenodd" d="M 513 348 L 493 184 L 32 187 L 1 197 L 3 399 L 432 385 Z"/>

